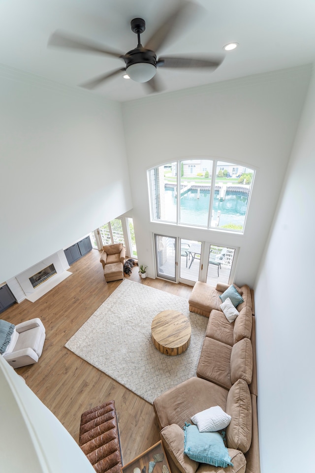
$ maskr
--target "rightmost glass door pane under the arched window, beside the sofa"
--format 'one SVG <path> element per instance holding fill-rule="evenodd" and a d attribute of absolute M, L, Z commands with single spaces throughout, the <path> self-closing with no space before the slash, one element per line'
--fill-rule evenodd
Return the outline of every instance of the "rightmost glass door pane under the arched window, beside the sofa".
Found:
<path fill-rule="evenodd" d="M 218 282 L 228 284 L 234 253 L 234 248 L 210 245 L 207 284 L 211 286 L 216 286 Z"/>

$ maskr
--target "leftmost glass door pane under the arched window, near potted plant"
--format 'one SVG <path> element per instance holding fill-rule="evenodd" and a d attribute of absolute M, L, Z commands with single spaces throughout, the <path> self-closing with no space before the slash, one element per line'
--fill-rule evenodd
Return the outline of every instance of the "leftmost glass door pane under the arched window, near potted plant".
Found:
<path fill-rule="evenodd" d="M 176 281 L 176 238 L 155 235 L 157 275 Z"/>

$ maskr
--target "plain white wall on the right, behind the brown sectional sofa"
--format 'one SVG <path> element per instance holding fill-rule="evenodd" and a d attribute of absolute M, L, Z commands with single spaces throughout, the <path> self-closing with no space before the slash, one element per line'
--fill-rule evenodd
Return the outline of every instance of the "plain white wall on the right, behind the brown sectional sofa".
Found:
<path fill-rule="evenodd" d="M 263 473 L 314 471 L 315 74 L 255 285 Z"/>

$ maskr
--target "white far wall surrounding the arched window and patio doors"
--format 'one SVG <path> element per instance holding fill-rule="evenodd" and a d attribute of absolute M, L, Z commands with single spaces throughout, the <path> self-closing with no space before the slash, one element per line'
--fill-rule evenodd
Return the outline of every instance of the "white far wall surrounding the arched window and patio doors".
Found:
<path fill-rule="evenodd" d="M 138 258 L 154 275 L 152 234 L 240 247 L 235 282 L 252 285 L 270 229 L 310 67 L 259 74 L 123 104 Z M 256 169 L 243 236 L 149 223 L 146 170 L 215 157 Z"/>

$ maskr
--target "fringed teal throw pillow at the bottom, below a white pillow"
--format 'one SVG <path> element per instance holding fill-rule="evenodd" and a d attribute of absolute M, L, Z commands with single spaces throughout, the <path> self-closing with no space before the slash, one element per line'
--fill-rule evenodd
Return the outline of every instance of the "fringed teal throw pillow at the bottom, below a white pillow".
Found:
<path fill-rule="evenodd" d="M 186 423 L 184 434 L 184 453 L 190 460 L 222 468 L 233 466 L 218 432 L 199 432 L 196 425 Z"/>

